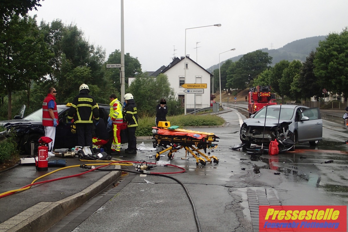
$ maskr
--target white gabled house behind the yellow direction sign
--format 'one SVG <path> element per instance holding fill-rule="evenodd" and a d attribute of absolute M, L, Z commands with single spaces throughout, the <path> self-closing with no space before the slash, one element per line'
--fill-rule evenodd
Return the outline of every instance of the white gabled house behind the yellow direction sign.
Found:
<path fill-rule="evenodd" d="M 186 104 L 187 112 L 193 111 L 195 108 L 200 109 L 210 106 L 210 78 L 212 76 L 206 69 L 201 67 L 189 56 L 185 58 L 176 57 L 174 60 L 162 70 L 168 76 L 171 88 L 174 89 L 178 99 L 181 99 L 182 106 Z M 186 78 L 185 69 L 186 67 Z M 186 93 L 182 84 L 206 84 L 207 88 L 203 88 L 204 93 Z M 197 90 L 197 89 L 196 89 Z"/>

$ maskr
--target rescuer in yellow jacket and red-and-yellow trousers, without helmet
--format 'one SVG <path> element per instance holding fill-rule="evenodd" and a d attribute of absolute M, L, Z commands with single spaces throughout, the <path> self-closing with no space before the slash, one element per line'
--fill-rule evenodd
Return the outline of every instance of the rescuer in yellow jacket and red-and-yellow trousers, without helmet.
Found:
<path fill-rule="evenodd" d="M 112 123 L 113 140 L 111 150 L 120 152 L 121 149 L 121 125 L 123 124 L 122 103 L 117 99 L 116 94 L 110 95 L 110 114 L 108 123 Z"/>

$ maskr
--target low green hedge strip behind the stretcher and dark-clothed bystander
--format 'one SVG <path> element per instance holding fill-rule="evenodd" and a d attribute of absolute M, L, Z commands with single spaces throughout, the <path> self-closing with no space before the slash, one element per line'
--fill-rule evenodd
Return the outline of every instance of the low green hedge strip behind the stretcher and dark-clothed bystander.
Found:
<path fill-rule="evenodd" d="M 169 116 L 167 120 L 171 126 L 192 127 L 192 126 L 219 126 L 225 121 L 216 115 L 179 115 Z M 136 136 L 151 136 L 152 127 L 156 126 L 155 117 L 143 117 L 138 121 L 139 125 L 135 131 Z"/>

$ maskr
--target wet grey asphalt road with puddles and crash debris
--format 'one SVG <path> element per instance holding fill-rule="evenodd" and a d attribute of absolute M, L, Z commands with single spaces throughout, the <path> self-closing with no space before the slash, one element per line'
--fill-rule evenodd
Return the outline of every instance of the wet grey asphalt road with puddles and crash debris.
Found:
<path fill-rule="evenodd" d="M 258 205 L 348 205 L 348 145 L 344 142 L 348 132 L 342 125 L 323 121 L 324 140 L 317 147 L 306 143 L 278 156 L 251 155 L 230 149 L 240 143 L 240 123 L 245 116 L 234 109 L 219 116 L 228 122 L 226 127 L 191 129 L 220 137 L 218 147 L 210 150 L 219 158 L 218 164 L 196 165 L 192 157 L 182 160 L 184 150 L 171 160 L 186 169 L 172 176 L 188 189 L 201 231 L 256 232 Z M 152 140 L 137 141 L 141 142 L 152 148 Z M 150 150 L 137 155 L 122 152 L 115 158 L 155 162 L 155 154 Z M 166 155 L 160 160 L 168 160 Z M 328 160 L 333 162 L 325 163 Z M 151 171 L 168 172 L 168 167 Z M 81 223 L 72 215 L 64 220 L 75 223 L 71 230 L 56 224 L 48 231 L 197 231 L 182 187 L 171 179 L 151 175 L 133 175 L 123 189 Z"/>

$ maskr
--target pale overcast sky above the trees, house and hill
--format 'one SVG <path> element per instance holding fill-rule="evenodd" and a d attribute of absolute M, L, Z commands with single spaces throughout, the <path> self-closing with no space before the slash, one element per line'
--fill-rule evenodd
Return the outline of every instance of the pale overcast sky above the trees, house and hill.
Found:
<path fill-rule="evenodd" d="M 45 0 L 41 5 L 29 11 L 38 23 L 76 24 L 90 43 L 105 49 L 106 59 L 121 50 L 120 0 Z M 124 0 L 125 53 L 137 57 L 143 71 L 156 71 L 172 57 L 184 56 L 186 31 L 186 53 L 209 68 L 219 64 L 219 53 L 232 48 L 221 61 L 339 33 L 348 26 L 347 9 L 347 0 Z M 213 24 L 222 26 L 185 30 Z"/>

